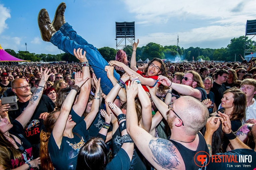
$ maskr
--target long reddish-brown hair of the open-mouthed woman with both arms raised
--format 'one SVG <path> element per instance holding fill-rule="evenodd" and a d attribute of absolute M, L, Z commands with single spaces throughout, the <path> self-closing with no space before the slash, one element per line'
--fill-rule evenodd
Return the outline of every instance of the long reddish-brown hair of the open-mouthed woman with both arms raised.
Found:
<path fill-rule="evenodd" d="M 53 127 L 57 121 L 55 113 L 58 111 L 53 111 L 50 113 L 46 120 L 44 121 L 46 131 L 41 131 L 40 133 L 40 160 L 41 160 L 41 170 L 54 170 L 53 163 L 50 158 L 48 151 L 49 137 L 53 131 Z"/>

